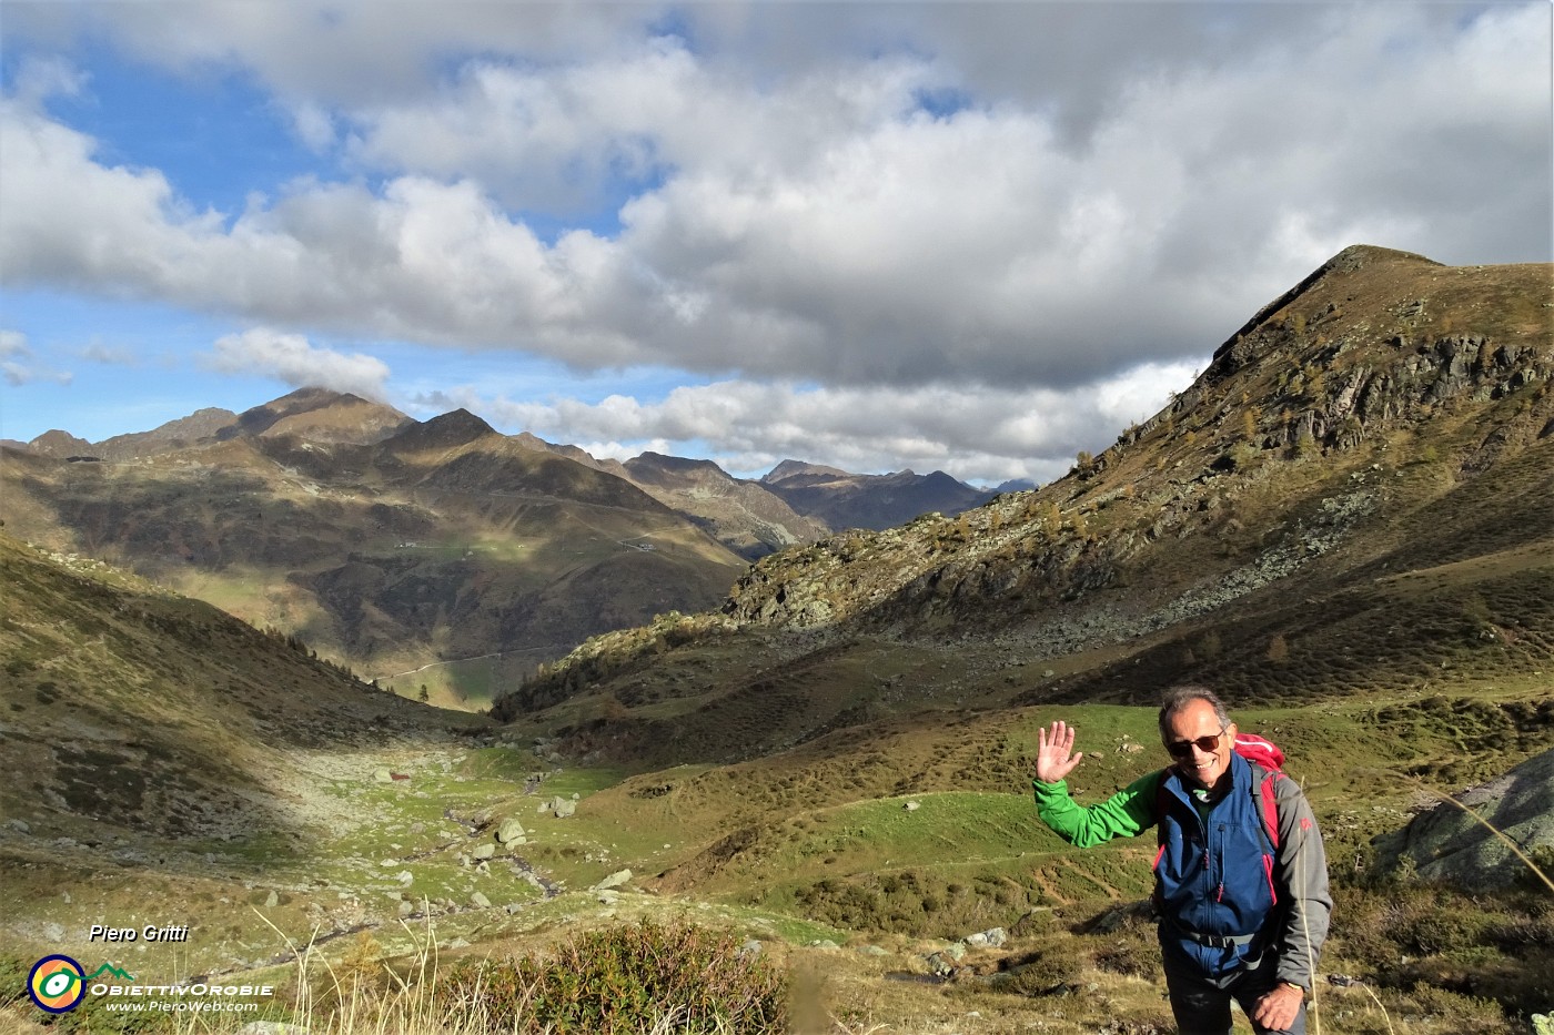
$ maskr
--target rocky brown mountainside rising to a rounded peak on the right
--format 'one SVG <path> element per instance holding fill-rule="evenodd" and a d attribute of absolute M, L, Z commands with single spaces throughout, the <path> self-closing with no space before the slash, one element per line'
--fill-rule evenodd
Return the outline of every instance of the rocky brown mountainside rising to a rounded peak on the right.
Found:
<path fill-rule="evenodd" d="M 766 558 L 720 614 L 586 643 L 496 715 L 564 709 L 538 721 L 662 765 L 1176 679 L 1254 701 L 1546 671 L 1549 303 L 1548 266 L 1346 249 L 1068 477 Z"/>

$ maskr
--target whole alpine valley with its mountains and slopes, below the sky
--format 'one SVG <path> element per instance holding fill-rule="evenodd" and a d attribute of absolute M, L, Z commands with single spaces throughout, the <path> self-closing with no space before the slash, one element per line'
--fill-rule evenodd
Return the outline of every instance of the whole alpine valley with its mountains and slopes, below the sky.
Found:
<path fill-rule="evenodd" d="M 286 981 L 690 918 L 788 970 L 794 1030 L 1167 1032 L 1153 838 L 1074 852 L 1029 780 L 1055 718 L 1080 800 L 1159 768 L 1192 681 L 1322 824 L 1321 1029 L 1526 1032 L 1551 378 L 1554 267 L 1355 246 L 993 499 L 317 390 L 8 448 L 0 939 L 188 925 L 110 959 Z"/>

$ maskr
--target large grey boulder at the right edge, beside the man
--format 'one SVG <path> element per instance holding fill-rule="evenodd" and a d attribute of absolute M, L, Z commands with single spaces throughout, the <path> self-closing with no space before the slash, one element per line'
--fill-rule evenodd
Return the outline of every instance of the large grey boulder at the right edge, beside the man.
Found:
<path fill-rule="evenodd" d="M 1464 810 L 1472 810 L 1472 816 Z M 1441 802 L 1399 831 L 1374 841 L 1383 866 L 1413 859 L 1425 880 L 1469 890 L 1506 886 L 1531 875 L 1501 835 L 1523 855 L 1554 855 L 1554 749 L 1528 758 L 1489 783 Z M 1545 867 L 1546 870 L 1548 867 Z"/>

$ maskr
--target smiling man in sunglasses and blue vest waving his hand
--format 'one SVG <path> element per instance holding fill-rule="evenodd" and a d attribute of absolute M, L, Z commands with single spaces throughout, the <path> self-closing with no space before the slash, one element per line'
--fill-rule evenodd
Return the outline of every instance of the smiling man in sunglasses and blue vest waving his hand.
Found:
<path fill-rule="evenodd" d="M 1304 1035 L 1333 908 L 1312 807 L 1277 760 L 1237 752 L 1235 724 L 1212 690 L 1167 690 L 1159 729 L 1172 765 L 1089 808 L 1064 783 L 1083 758 L 1074 729 L 1043 729 L 1037 814 L 1080 849 L 1158 827 L 1155 908 L 1183 1035 L 1226 1035 L 1231 999 L 1259 1033 Z"/>

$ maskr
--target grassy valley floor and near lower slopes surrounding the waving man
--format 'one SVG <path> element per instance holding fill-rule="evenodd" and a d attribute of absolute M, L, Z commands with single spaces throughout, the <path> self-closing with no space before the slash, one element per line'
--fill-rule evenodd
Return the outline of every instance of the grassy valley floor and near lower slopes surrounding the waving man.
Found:
<path fill-rule="evenodd" d="M 364 959 L 402 968 L 437 945 L 446 968 L 646 917 L 757 939 L 791 976 L 810 1024 L 799 1030 L 1169 1030 L 1153 936 L 1127 909 L 1147 890 L 1148 845 L 1066 850 L 1026 789 L 1037 729 L 1057 715 L 1088 752 L 1078 794 L 1158 766 L 1147 707 L 945 699 L 744 761 L 605 765 L 608 726 L 592 760 L 563 757 L 544 730 L 482 732 L 472 716 L 375 692 L 98 561 L 11 539 L 0 550 L 5 754 L 26 774 L 6 786 L 0 824 L 6 982 L 65 951 L 143 984 L 278 982 L 269 1016 L 287 1016 L 306 979 L 328 1013 L 331 982 Z M 667 659 L 712 665 L 718 650 L 732 646 Z M 880 643 L 873 660 L 890 679 L 948 656 Z M 1349 1021 L 1340 1030 L 1382 1032 L 1383 1018 L 1442 1035 L 1514 1030 L 1504 1010 L 1546 993 L 1529 976 L 1549 973 L 1548 909 L 1526 890 L 1469 909 L 1447 892 L 1371 884 L 1368 841 L 1433 789 L 1554 741 L 1542 676 L 1453 676 L 1436 696 L 1239 718 L 1285 744 L 1327 830 L 1341 912 L 1326 973 L 1361 976 L 1378 996 L 1321 990 Z M 556 799 L 575 811 L 558 816 Z M 522 841 L 496 841 L 505 819 Z M 623 884 L 594 890 L 623 870 Z M 104 920 L 186 923 L 191 937 L 109 948 L 87 934 Z M 936 954 L 995 926 L 1007 945 L 936 977 Z M 40 1016 L 11 1005 L 0 1021 L 33 1030 Z M 76 1016 L 121 1030 L 101 1012 Z"/>

